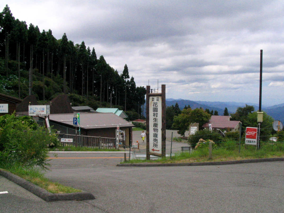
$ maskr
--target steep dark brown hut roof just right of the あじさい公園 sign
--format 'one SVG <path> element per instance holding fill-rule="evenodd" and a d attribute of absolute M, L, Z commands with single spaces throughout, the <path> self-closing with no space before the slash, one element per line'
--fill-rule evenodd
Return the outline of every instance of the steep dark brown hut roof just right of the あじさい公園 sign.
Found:
<path fill-rule="evenodd" d="M 51 100 L 50 114 L 73 114 L 68 95 L 59 95 Z"/>

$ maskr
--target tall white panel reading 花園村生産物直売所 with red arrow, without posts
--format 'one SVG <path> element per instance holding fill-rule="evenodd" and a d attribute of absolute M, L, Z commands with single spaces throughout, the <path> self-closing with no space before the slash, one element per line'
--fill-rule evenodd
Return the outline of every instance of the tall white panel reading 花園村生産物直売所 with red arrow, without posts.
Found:
<path fill-rule="evenodd" d="M 162 154 L 162 96 L 149 96 L 149 151 Z"/>

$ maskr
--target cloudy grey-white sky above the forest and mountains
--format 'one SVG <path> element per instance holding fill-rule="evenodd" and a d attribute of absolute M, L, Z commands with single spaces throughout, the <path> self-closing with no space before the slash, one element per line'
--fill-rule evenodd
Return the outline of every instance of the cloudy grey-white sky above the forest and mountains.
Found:
<path fill-rule="evenodd" d="M 1 10 L 6 3 L 0 3 Z M 284 103 L 284 1 L 13 1 L 15 18 L 85 42 L 166 98 Z"/>

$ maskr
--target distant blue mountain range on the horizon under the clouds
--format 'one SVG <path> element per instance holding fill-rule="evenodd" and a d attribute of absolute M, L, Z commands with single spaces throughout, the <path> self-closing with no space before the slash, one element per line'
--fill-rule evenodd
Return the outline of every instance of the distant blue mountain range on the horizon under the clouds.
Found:
<path fill-rule="evenodd" d="M 220 101 L 191 101 L 183 99 L 166 99 L 166 106 L 176 105 L 178 103 L 179 108 L 182 110 L 185 106 L 190 105 L 191 109 L 203 108 L 210 111 L 217 110 L 219 115 L 223 115 L 225 107 L 227 107 L 229 114 L 235 113 L 238 107 L 244 107 L 247 105 L 254 106 L 255 110 L 258 110 L 258 104 L 255 103 L 242 103 L 242 102 L 220 102 Z M 144 106 L 146 108 L 146 104 Z M 284 122 L 284 103 L 273 106 L 262 106 L 261 111 L 266 112 L 274 120 L 280 120 Z M 146 112 L 144 113 L 146 116 Z"/>

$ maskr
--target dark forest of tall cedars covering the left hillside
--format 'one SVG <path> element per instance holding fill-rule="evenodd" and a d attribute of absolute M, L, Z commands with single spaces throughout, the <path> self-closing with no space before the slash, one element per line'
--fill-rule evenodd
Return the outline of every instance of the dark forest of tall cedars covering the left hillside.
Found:
<path fill-rule="evenodd" d="M 13 17 L 8 5 L 0 13 L 0 93 L 25 98 L 36 95 L 43 104 L 69 94 L 72 106 L 89 105 L 125 110 L 130 119 L 143 117 L 145 87 L 136 87 L 125 64 L 118 73 L 95 48 L 74 44 L 64 33 Z"/>

